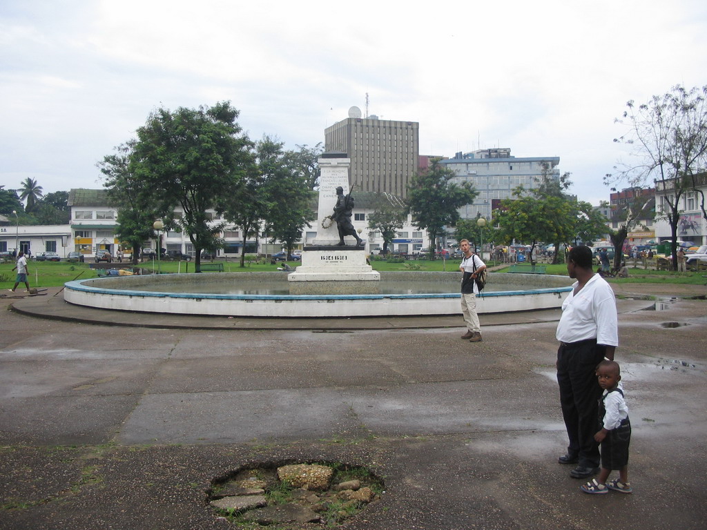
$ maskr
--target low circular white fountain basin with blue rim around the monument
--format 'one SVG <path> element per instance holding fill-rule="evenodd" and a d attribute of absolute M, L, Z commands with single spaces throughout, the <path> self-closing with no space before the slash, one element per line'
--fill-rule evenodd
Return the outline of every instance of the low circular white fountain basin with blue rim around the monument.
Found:
<path fill-rule="evenodd" d="M 460 273 L 382 272 L 381 294 L 247 294 L 286 283 L 282 273 L 188 273 L 111 276 L 65 284 L 71 304 L 119 311 L 229 317 L 402 317 L 460 314 Z M 385 285 L 419 285 L 417 293 L 385 293 Z M 477 302 L 483 313 L 561 307 L 571 291 L 566 276 L 489 273 Z M 214 286 L 218 292 L 213 292 Z M 508 289 L 504 290 L 504 286 Z M 238 290 L 229 293 L 230 290 Z M 410 289 L 407 289 L 410 290 Z M 212 292 L 209 292 L 212 291 Z M 437 291 L 437 292 L 430 292 Z"/>

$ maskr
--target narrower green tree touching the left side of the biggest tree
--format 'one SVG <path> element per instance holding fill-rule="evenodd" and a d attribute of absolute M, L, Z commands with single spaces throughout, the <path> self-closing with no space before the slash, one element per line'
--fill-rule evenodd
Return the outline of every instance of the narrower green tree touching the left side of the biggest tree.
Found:
<path fill-rule="evenodd" d="M 133 154 L 135 141 L 131 140 L 115 148 L 116 153 L 106 155 L 96 164 L 103 173 L 103 185 L 108 191 L 108 200 L 111 206 L 118 210 L 116 237 L 127 242 L 132 248 L 132 262 L 137 264 L 140 259 L 142 245 L 150 237 L 155 237 L 152 228 L 157 218 L 156 213 L 150 208 L 150 190 L 144 180 L 136 177 L 131 170 L 130 160 Z"/>

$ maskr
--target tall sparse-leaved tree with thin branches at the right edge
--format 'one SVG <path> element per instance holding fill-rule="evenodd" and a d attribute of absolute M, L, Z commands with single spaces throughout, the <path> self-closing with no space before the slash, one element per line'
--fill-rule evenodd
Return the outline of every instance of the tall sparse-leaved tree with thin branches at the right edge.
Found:
<path fill-rule="evenodd" d="M 655 182 L 656 191 L 665 193 L 655 209 L 670 225 L 672 262 L 677 268 L 677 228 L 686 192 L 701 196 L 707 220 L 699 187 L 700 173 L 707 167 L 707 85 L 690 90 L 676 85 L 641 105 L 631 100 L 615 122 L 626 132 L 614 141 L 629 146 L 631 160 L 617 164 L 604 182 L 625 180 L 639 187 Z"/>

